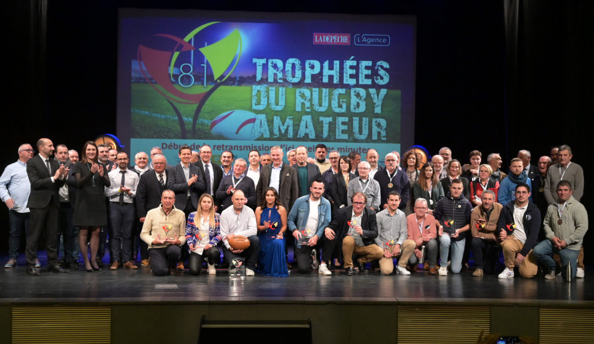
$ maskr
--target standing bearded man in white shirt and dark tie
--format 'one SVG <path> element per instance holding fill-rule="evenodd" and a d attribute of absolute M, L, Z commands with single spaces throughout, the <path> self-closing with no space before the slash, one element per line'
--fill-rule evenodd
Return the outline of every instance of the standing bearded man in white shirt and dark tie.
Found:
<path fill-rule="evenodd" d="M 109 269 L 117 270 L 122 263 L 127 269 L 138 269 L 132 259 L 132 227 L 135 220 L 134 198 L 140 177 L 128 170 L 126 152 L 118 152 L 116 163 L 118 168 L 109 172 L 111 185 L 105 190 L 105 196 L 109 200 L 109 218 L 112 223 L 109 244 L 113 256 Z"/>

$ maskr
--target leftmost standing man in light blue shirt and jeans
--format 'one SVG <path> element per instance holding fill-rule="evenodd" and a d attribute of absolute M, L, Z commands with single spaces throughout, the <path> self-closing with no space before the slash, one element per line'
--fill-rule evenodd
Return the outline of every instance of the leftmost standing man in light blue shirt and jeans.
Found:
<path fill-rule="evenodd" d="M 33 158 L 33 147 L 22 144 L 18 147 L 18 160 L 8 165 L 0 177 L 0 197 L 8 207 L 10 234 L 8 234 L 8 262 L 4 267 L 16 267 L 21 233 L 29 232 L 29 208 L 27 200 L 31 184 L 27 177 L 27 161 Z M 39 262 L 39 260 L 37 260 Z"/>

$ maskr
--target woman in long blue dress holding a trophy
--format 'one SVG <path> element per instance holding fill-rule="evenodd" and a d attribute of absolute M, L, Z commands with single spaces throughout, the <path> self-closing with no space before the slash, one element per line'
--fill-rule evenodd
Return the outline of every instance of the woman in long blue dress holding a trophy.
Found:
<path fill-rule="evenodd" d="M 283 240 L 287 229 L 287 210 L 280 205 L 279 194 L 274 187 L 266 189 L 255 213 L 260 237 L 260 265 L 257 271 L 268 276 L 289 276 Z"/>

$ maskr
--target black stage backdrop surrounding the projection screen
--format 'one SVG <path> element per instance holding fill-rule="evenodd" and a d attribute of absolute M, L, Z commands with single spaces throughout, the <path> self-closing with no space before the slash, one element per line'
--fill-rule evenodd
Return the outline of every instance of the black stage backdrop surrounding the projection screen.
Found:
<path fill-rule="evenodd" d="M 519 149 L 532 163 L 569 144 L 584 167 L 593 113 L 591 1 L 58 1 L 2 2 L 5 15 L 4 145 L 0 166 L 22 142 L 47 136 L 80 149 L 116 132 L 118 8 L 198 8 L 264 12 L 415 15 L 415 144 L 430 154 L 447 145 L 467 161 L 479 149 L 504 161 Z M 274 17 L 274 13 L 270 15 Z M 7 212 L 0 212 L 6 250 Z M 586 235 L 586 260 L 593 252 Z"/>

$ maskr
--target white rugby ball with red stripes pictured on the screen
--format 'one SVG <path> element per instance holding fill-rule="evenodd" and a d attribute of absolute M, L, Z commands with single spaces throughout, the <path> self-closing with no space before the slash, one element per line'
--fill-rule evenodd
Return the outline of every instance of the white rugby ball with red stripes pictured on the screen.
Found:
<path fill-rule="evenodd" d="M 219 114 L 210 122 L 210 132 L 229 140 L 251 141 L 257 139 L 254 133 L 255 122 L 255 113 L 246 110 L 231 110 Z"/>

